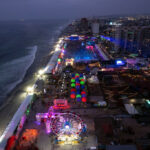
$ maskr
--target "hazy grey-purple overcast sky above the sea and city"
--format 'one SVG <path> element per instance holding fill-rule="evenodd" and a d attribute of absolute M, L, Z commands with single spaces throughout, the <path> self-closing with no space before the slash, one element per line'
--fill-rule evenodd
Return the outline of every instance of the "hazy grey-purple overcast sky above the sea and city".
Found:
<path fill-rule="evenodd" d="M 150 0 L 0 0 L 0 19 L 149 13 Z"/>

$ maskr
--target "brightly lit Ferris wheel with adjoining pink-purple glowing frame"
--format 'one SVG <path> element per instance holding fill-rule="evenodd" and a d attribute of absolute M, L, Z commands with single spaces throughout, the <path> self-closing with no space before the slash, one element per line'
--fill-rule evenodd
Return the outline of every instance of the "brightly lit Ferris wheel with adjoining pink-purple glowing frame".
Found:
<path fill-rule="evenodd" d="M 42 119 L 44 119 L 47 133 L 52 132 L 57 136 L 58 144 L 75 144 L 80 141 L 80 134 L 85 125 L 79 115 L 71 112 L 58 113 L 50 107 L 47 113 L 36 114 L 39 124 Z"/>

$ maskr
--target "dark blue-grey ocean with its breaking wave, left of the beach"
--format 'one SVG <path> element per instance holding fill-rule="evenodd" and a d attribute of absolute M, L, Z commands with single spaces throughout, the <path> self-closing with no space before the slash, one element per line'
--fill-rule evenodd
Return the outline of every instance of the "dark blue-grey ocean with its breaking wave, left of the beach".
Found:
<path fill-rule="evenodd" d="M 33 74 L 52 50 L 68 20 L 0 22 L 0 105 Z"/>

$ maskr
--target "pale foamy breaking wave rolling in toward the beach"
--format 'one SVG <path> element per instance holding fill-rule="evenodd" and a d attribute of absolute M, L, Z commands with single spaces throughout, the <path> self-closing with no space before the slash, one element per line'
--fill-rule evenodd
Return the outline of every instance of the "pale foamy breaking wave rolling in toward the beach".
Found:
<path fill-rule="evenodd" d="M 22 82 L 27 70 L 32 65 L 37 52 L 37 46 L 30 47 L 29 53 L 0 66 L 0 95 L 7 96 L 17 84 Z M 1 100 L 1 99 L 0 99 Z"/>

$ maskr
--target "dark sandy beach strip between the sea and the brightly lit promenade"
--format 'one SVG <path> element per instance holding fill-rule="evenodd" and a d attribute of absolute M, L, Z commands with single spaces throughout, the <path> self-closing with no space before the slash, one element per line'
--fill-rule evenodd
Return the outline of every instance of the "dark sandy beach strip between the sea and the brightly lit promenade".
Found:
<path fill-rule="evenodd" d="M 3 134 L 5 131 L 6 127 L 10 123 L 12 117 L 26 98 L 27 94 L 25 92 L 27 86 L 31 86 L 35 83 L 36 78 L 34 77 L 35 73 L 41 69 L 42 67 L 46 67 L 47 64 L 49 63 L 51 57 L 53 54 L 50 54 L 50 52 L 54 49 L 54 46 L 59 39 L 59 37 L 62 36 L 62 31 L 66 28 L 66 25 L 63 26 L 61 30 L 59 30 L 59 34 L 56 34 L 54 37 L 54 41 L 52 44 L 48 43 L 44 45 L 44 47 L 40 47 L 41 51 L 37 51 L 36 53 L 36 58 L 32 65 L 28 68 L 26 71 L 26 74 L 23 78 L 23 80 L 16 85 L 16 87 L 6 96 L 4 99 L 3 104 L 0 106 L 0 136 Z M 39 48 L 39 47 L 38 47 Z M 42 52 L 42 49 L 47 49 L 46 51 L 44 50 Z M 44 53 L 42 57 L 41 53 Z M 6 119 L 7 118 L 7 119 Z"/>

